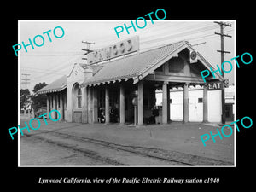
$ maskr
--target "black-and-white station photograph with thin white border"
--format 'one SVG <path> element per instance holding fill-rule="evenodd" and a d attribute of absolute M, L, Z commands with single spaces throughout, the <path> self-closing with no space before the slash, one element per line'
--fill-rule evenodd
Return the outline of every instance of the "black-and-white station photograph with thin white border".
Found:
<path fill-rule="evenodd" d="M 236 166 L 236 20 L 155 13 L 19 20 L 20 167 Z"/>

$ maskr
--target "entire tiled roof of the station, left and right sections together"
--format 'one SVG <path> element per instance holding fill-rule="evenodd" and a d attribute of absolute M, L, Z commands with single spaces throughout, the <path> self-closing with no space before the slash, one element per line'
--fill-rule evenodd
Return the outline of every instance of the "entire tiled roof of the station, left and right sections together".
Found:
<path fill-rule="evenodd" d="M 90 67 L 93 70 L 93 76 L 86 79 L 81 85 L 87 84 L 101 84 L 121 79 L 136 79 L 139 75 L 147 71 L 150 67 L 154 67 L 159 61 L 171 55 L 184 44 L 189 45 L 186 41 L 177 42 L 175 44 L 168 44 L 157 49 L 150 49 L 148 51 L 138 53 L 136 55 L 126 55 L 124 58 L 109 61 L 101 65 L 88 66 L 86 64 L 79 64 L 84 69 Z M 199 53 L 201 60 L 205 62 L 207 67 L 212 67 Z M 213 68 L 213 67 L 212 67 Z M 219 79 L 222 79 L 219 76 Z M 56 92 L 64 90 L 67 87 L 67 76 L 55 80 L 53 83 L 38 90 L 38 94 Z"/>

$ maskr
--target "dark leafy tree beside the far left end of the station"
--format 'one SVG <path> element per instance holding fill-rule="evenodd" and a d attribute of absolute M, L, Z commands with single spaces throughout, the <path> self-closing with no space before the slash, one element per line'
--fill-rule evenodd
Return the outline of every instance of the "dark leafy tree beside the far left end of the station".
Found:
<path fill-rule="evenodd" d="M 43 87 L 45 87 L 47 84 L 45 82 L 36 84 L 34 86 L 34 89 L 32 90 L 34 92 L 34 95 L 31 96 L 32 99 L 32 108 L 37 111 L 38 108 L 41 107 L 46 107 L 46 101 L 47 101 L 47 96 L 46 94 L 35 94 L 38 90 L 41 90 Z"/>

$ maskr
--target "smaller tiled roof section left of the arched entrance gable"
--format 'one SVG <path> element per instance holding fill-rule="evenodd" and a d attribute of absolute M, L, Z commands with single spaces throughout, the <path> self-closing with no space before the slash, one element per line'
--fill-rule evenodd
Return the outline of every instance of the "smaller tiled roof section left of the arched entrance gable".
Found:
<path fill-rule="evenodd" d="M 64 90 L 67 87 L 67 76 L 64 75 L 60 79 L 55 80 L 51 84 L 43 87 L 41 90 L 37 91 L 37 94 L 49 93 L 49 92 L 57 92 Z"/>

